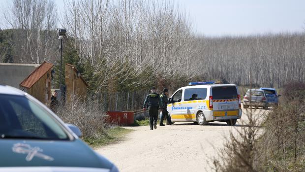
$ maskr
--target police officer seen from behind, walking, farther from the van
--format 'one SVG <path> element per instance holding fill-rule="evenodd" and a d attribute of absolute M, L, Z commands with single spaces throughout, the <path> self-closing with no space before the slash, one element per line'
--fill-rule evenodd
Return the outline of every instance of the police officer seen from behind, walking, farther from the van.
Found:
<path fill-rule="evenodd" d="M 160 96 L 155 93 L 155 87 L 151 88 L 151 92 L 151 94 L 146 96 L 146 99 L 143 104 L 143 110 L 146 110 L 146 107 L 148 106 L 150 114 L 150 127 L 151 130 L 153 130 L 152 127 L 154 127 L 154 129 L 157 129 L 158 109 L 162 107 L 162 102 Z"/>

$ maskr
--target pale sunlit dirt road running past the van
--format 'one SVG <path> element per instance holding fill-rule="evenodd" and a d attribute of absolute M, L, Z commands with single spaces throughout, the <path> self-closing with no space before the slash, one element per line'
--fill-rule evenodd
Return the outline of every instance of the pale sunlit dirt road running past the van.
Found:
<path fill-rule="evenodd" d="M 264 110 L 255 110 L 259 115 Z M 177 122 L 171 126 L 126 127 L 135 130 L 116 144 L 96 149 L 121 172 L 202 172 L 212 171 L 212 158 L 217 156 L 215 148 L 223 147 L 230 130 L 236 133 L 247 121 L 243 111 L 235 127 L 213 122 L 206 126 L 190 122 Z"/>

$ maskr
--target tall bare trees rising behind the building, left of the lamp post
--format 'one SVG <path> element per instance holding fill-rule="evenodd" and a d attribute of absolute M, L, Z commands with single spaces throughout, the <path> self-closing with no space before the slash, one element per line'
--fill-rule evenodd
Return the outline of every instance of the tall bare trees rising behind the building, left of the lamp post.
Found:
<path fill-rule="evenodd" d="M 53 0 L 12 1 L 3 16 L 6 23 L 16 30 L 16 37 L 11 40 L 17 49 L 15 62 L 39 64 L 55 60 L 56 15 Z"/>

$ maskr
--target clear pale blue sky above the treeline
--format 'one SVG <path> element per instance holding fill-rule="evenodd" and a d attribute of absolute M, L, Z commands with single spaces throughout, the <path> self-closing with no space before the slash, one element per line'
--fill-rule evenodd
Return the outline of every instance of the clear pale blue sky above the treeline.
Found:
<path fill-rule="evenodd" d="M 7 1 L 0 0 L 1 6 Z M 173 0 L 206 36 L 305 32 L 305 0 Z M 59 11 L 63 0 L 55 0 Z M 60 14 L 60 12 L 59 12 Z"/>

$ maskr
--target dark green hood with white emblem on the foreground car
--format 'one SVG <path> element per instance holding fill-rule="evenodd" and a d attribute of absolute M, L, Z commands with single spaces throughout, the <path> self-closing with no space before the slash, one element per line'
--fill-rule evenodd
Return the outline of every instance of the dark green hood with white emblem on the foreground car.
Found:
<path fill-rule="evenodd" d="M 0 167 L 91 167 L 112 169 L 80 139 L 73 141 L 0 139 Z"/>

